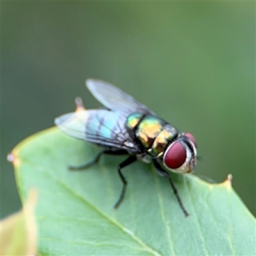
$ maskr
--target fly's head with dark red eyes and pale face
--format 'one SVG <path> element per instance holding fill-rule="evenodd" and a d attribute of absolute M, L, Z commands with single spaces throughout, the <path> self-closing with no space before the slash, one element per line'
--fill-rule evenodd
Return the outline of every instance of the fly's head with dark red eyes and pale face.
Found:
<path fill-rule="evenodd" d="M 184 132 L 166 148 L 163 164 L 177 173 L 189 173 L 196 166 L 196 141 L 192 134 Z"/>

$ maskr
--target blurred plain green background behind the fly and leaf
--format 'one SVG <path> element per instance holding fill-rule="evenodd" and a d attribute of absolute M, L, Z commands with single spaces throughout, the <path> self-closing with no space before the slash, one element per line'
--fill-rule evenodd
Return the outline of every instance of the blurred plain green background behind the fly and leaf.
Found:
<path fill-rule="evenodd" d="M 1 216 L 20 207 L 6 155 L 73 111 L 88 77 L 195 135 L 196 175 L 255 214 L 254 2 L 1 2 Z"/>

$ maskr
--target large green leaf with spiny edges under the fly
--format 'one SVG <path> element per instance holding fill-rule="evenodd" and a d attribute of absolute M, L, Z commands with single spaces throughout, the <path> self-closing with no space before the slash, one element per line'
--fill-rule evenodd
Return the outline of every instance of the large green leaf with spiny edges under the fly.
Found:
<path fill-rule="evenodd" d="M 67 170 L 99 150 L 51 128 L 9 156 L 22 201 L 29 188 L 38 191 L 40 255 L 255 255 L 255 218 L 230 180 L 208 184 L 172 173 L 190 214 L 185 218 L 168 180 L 138 161 L 124 169 L 129 184 L 115 210 L 122 189 L 116 166 L 124 156 L 103 156 L 82 172 Z"/>

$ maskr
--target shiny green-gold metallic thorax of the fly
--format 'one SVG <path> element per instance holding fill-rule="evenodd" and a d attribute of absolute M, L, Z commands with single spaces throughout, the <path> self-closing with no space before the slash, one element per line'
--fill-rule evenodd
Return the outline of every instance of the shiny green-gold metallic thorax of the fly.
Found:
<path fill-rule="evenodd" d="M 177 137 L 177 130 L 157 116 L 143 116 L 141 113 L 132 113 L 128 116 L 127 126 L 130 127 L 143 147 L 147 148 L 152 156 L 163 156 L 164 149 Z"/>

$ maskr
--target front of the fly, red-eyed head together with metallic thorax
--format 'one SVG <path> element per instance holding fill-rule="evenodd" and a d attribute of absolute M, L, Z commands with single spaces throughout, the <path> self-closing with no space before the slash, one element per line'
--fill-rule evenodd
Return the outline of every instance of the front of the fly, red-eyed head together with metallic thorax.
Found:
<path fill-rule="evenodd" d="M 157 116 L 133 113 L 127 126 L 140 141 L 138 157 L 148 163 L 157 159 L 166 168 L 179 173 L 191 172 L 196 165 L 196 141 L 189 132 L 181 133 Z"/>

